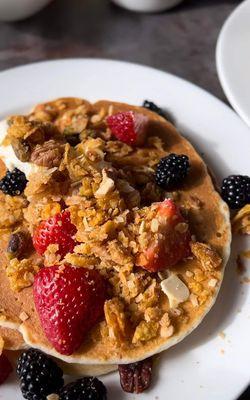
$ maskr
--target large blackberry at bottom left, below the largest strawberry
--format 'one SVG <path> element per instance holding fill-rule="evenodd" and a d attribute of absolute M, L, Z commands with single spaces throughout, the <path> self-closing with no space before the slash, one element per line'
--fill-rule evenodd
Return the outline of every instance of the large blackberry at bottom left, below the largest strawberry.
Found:
<path fill-rule="evenodd" d="M 24 351 L 17 360 L 22 395 L 28 400 L 46 400 L 63 386 L 63 372 L 46 354 L 36 349 Z"/>

